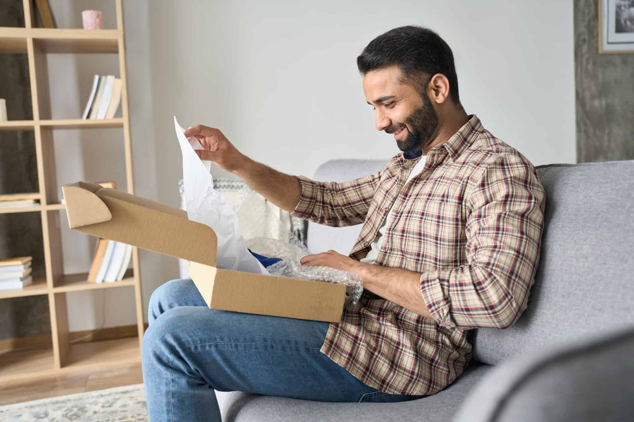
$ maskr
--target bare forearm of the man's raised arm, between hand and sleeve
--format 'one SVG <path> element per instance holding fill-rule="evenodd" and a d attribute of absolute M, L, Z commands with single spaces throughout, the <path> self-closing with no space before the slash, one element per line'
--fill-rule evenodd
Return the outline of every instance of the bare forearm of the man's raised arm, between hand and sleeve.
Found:
<path fill-rule="evenodd" d="M 288 211 L 295 209 L 302 193 L 297 177 L 273 170 L 245 156 L 233 174 L 240 177 L 249 187 L 256 190 L 268 201 Z"/>

